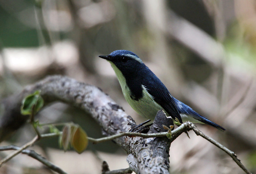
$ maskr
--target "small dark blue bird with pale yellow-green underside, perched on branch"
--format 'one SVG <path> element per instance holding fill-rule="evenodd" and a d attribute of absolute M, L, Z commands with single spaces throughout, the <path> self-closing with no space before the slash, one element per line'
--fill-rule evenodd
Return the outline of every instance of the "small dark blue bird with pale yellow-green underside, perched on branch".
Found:
<path fill-rule="evenodd" d="M 132 51 L 116 50 L 99 57 L 111 64 L 124 98 L 139 115 L 154 120 L 157 111 L 163 109 L 175 123 L 204 123 L 225 131 L 225 128 L 174 98 L 162 81 Z"/>

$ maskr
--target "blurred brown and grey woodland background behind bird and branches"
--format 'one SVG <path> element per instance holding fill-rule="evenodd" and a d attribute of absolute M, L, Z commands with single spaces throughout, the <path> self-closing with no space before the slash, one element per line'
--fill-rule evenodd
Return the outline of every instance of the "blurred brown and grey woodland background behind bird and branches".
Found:
<path fill-rule="evenodd" d="M 110 64 L 98 58 L 117 49 L 136 53 L 171 94 L 227 129 L 198 128 L 234 151 L 256 172 L 255 0 L 0 0 L 0 97 L 20 92 L 48 75 L 62 74 L 100 87 L 137 124 L 145 121 L 128 105 Z M 54 103 L 40 123 L 79 123 L 88 136 L 100 126 L 81 110 Z M 189 132 L 170 148 L 170 173 L 242 174 L 210 142 Z M 1 143 L 23 145 L 35 136 L 27 124 Z M 58 139 L 31 149 L 68 173 L 127 168 L 127 154 L 113 142 L 92 145 L 81 155 L 59 150 Z M 1 152 L 3 158 L 10 152 Z M 52 173 L 18 155 L 2 174 Z"/>

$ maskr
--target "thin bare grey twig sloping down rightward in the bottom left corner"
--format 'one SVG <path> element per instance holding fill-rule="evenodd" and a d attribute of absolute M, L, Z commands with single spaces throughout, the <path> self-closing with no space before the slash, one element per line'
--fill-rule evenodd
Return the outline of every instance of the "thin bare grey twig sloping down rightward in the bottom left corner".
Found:
<path fill-rule="evenodd" d="M 20 150 L 20 147 L 18 146 L 4 146 L 4 147 L 0 147 L 0 151 L 4 151 L 4 150 Z M 24 149 L 21 151 L 22 154 L 26 154 L 34 159 L 36 159 L 37 161 L 43 163 L 44 165 L 46 165 L 49 169 L 60 173 L 60 174 L 68 174 L 67 172 L 63 171 L 62 169 L 60 169 L 58 166 L 54 165 L 53 163 L 47 161 L 44 157 L 42 157 L 41 155 L 37 154 L 34 150 L 28 150 L 28 149 Z"/>

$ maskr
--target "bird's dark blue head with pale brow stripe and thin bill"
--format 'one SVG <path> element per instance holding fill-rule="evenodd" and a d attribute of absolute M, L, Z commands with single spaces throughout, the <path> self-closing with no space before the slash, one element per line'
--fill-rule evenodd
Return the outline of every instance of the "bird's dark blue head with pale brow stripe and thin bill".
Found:
<path fill-rule="evenodd" d="M 140 57 L 127 50 L 116 50 L 107 56 L 99 57 L 108 60 L 114 70 L 118 68 L 122 73 L 130 73 L 143 64 Z"/>

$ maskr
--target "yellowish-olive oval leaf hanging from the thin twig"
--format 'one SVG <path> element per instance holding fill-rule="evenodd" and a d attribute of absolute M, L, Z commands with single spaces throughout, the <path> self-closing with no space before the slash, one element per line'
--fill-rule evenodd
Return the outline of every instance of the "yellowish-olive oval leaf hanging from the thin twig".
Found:
<path fill-rule="evenodd" d="M 80 126 L 75 128 L 73 132 L 74 133 L 71 137 L 71 145 L 77 153 L 81 154 L 88 146 L 87 134 Z"/>

